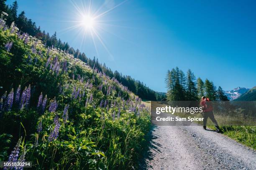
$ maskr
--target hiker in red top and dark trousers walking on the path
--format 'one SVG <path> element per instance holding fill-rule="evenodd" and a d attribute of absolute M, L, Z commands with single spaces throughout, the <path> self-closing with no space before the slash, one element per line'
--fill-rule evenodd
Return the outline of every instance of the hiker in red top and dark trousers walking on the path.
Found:
<path fill-rule="evenodd" d="M 206 130 L 207 119 L 208 119 L 208 117 L 210 117 L 210 119 L 212 120 L 213 124 L 216 127 L 216 132 L 220 133 L 220 128 L 219 128 L 218 123 L 215 120 L 213 112 L 212 112 L 213 107 L 212 107 L 212 103 L 210 102 L 210 99 L 206 98 L 205 96 L 202 96 L 202 100 L 200 102 L 200 105 L 203 108 L 202 115 L 204 117 L 204 119 L 203 119 L 203 128 L 204 128 L 204 130 Z"/>

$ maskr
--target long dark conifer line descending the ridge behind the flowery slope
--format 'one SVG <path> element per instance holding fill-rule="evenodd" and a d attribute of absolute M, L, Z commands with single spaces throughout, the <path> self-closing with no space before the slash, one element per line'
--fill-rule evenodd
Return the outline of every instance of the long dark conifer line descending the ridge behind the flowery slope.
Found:
<path fill-rule="evenodd" d="M 115 77 L 123 85 L 127 86 L 129 90 L 138 95 L 139 97 L 147 100 L 161 100 L 166 97 L 165 93 L 156 92 L 147 87 L 143 82 L 133 79 L 129 75 L 122 75 L 118 71 L 112 71 L 109 67 L 102 65 L 98 59 L 93 59 L 87 57 L 84 52 L 80 52 L 78 49 L 74 50 L 73 47 L 67 42 L 62 42 L 57 38 L 56 32 L 50 36 L 49 32 L 46 33 L 45 30 L 41 31 L 40 26 L 36 26 L 36 23 L 31 19 L 28 19 L 25 12 L 22 11 L 18 14 L 18 3 L 14 1 L 10 7 L 5 4 L 6 0 L 0 0 L 0 12 L 8 13 L 6 23 L 10 25 L 13 21 L 15 25 L 20 29 L 21 32 L 26 32 L 29 35 L 42 40 L 47 46 L 54 46 L 61 50 L 65 50 L 69 54 L 74 55 L 74 57 L 79 58 L 83 62 L 86 62 L 90 67 L 98 68 L 98 70 L 105 72 L 110 78 Z"/>

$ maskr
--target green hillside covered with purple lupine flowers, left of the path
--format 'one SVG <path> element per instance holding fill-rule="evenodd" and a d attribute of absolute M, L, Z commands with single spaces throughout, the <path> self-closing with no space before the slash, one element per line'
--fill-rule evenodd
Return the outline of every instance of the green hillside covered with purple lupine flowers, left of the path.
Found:
<path fill-rule="evenodd" d="M 3 20 L 0 86 L 0 161 L 32 161 L 33 169 L 136 168 L 150 126 L 141 99 Z"/>

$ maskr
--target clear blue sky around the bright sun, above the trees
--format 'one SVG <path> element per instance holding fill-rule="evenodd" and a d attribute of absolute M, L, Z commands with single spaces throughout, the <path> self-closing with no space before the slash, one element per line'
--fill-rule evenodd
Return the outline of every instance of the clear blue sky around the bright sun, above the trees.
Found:
<path fill-rule="evenodd" d="M 166 72 L 176 66 L 223 90 L 256 85 L 256 1 L 92 1 L 91 13 L 109 10 L 94 28 L 104 45 L 88 30 L 83 41 L 82 26 L 65 30 L 80 20 L 72 2 L 82 9 L 80 0 L 18 0 L 18 12 L 24 10 L 41 30 L 56 31 L 87 57 L 156 91 L 166 91 Z"/>

